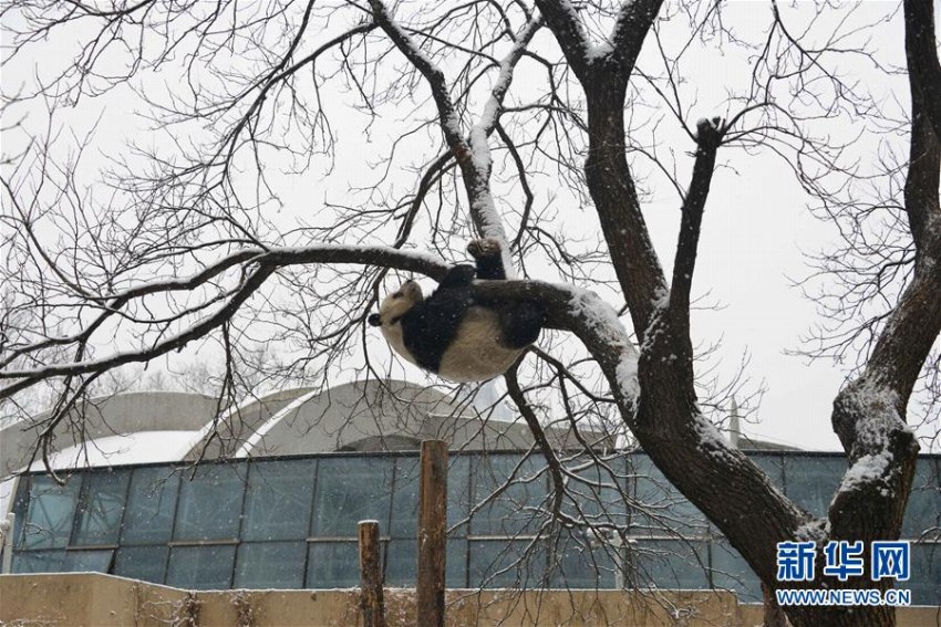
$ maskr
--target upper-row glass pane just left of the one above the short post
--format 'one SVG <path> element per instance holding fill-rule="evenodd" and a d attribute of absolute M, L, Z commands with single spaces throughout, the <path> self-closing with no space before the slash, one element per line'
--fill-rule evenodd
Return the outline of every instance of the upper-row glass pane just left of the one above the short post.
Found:
<path fill-rule="evenodd" d="M 312 459 L 254 462 L 248 472 L 241 536 L 306 540 L 316 468 L 317 460 Z"/>

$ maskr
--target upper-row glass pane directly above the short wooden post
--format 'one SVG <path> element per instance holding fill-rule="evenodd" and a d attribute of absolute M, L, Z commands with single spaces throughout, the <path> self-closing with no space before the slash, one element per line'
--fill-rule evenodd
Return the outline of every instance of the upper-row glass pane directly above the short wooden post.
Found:
<path fill-rule="evenodd" d="M 317 469 L 313 529 L 319 537 L 356 537 L 356 524 L 378 520 L 389 529 L 391 458 L 328 458 Z"/>

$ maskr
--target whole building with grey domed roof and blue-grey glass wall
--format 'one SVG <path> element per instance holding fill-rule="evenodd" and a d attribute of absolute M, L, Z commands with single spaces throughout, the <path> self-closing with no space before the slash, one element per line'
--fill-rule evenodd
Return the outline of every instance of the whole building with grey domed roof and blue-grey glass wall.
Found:
<path fill-rule="evenodd" d="M 192 589 L 352 587 L 356 523 L 373 519 L 381 524 L 386 585 L 413 586 L 417 452 L 376 449 L 414 449 L 423 437 L 447 432 L 454 448 L 465 449 L 452 453 L 448 470 L 448 587 L 717 588 L 735 591 L 742 602 L 761 599 L 742 557 L 643 452 L 617 450 L 591 430 L 582 437 L 593 439 L 592 449 L 575 451 L 573 432 L 551 430 L 560 451 L 572 450 L 558 453 L 566 491 L 557 501 L 525 427 L 468 417 L 443 396 L 401 385 L 382 401 L 365 403 L 355 386 L 282 394 L 270 407 L 255 400 L 245 409 L 250 419 L 223 421 L 231 440 L 208 449 L 199 398 L 188 398 L 195 395 L 108 401 L 99 415 L 111 435 L 61 451 L 60 462 L 81 451 L 86 462 L 66 464 L 64 485 L 39 469 L 2 484 L 8 498 L 0 513 L 15 514 L 12 569 L 112 573 Z M 324 394 L 332 394 L 329 403 Z M 332 416 L 356 408 L 368 416 Z M 164 421 L 149 415 L 161 411 Z M 134 438 L 117 435 L 122 420 L 175 428 L 138 430 L 133 442 L 123 440 L 134 445 L 128 450 L 104 454 L 114 438 Z M 148 459 L 170 459 L 128 463 L 135 448 L 161 441 L 162 451 L 147 451 Z M 23 449 L 4 446 L 3 459 L 15 464 Z M 217 454 L 194 466 L 197 448 Z M 748 454 L 815 514 L 826 511 L 846 470 L 836 453 Z M 919 605 L 941 604 L 939 477 L 941 457 L 921 456 L 902 529 L 913 542 L 912 577 L 900 587 Z"/>

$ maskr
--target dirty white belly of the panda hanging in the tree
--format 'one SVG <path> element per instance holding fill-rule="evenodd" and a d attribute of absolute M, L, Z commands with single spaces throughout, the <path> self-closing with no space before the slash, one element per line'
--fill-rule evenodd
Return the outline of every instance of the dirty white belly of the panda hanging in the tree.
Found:
<path fill-rule="evenodd" d="M 461 383 L 482 382 L 504 374 L 523 351 L 503 346 L 499 327 L 499 318 L 492 310 L 468 309 L 461 333 L 442 356 L 438 374 Z"/>

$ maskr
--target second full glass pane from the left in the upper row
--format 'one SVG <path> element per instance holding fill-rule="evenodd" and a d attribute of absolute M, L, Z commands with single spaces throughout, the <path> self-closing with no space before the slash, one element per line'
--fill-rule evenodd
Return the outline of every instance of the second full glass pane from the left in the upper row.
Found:
<path fill-rule="evenodd" d="M 126 470 L 92 472 L 85 476 L 75 514 L 72 544 L 117 544 L 130 479 L 131 473 Z"/>

